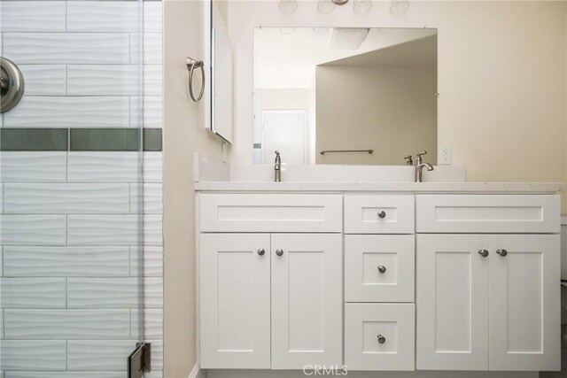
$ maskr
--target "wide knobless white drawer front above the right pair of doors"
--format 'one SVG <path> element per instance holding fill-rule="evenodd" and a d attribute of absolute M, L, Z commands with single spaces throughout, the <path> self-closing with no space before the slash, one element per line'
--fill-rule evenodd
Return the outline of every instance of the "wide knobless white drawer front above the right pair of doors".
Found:
<path fill-rule="evenodd" d="M 559 233 L 556 195 L 416 196 L 416 232 Z"/>

